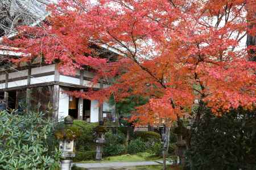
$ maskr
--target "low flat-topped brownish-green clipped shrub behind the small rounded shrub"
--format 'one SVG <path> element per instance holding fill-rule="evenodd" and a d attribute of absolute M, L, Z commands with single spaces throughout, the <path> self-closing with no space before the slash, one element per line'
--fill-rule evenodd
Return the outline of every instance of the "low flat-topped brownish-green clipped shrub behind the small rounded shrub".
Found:
<path fill-rule="evenodd" d="M 154 131 L 135 131 L 135 138 L 141 138 L 144 142 L 160 142 L 161 136 Z"/>

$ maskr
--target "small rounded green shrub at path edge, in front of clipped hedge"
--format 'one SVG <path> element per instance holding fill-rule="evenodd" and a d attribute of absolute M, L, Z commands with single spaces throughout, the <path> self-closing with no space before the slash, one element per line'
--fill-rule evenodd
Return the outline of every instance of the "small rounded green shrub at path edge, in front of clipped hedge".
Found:
<path fill-rule="evenodd" d="M 138 152 L 145 152 L 147 150 L 146 143 L 141 138 L 130 141 L 127 152 L 128 154 L 136 154 Z"/>

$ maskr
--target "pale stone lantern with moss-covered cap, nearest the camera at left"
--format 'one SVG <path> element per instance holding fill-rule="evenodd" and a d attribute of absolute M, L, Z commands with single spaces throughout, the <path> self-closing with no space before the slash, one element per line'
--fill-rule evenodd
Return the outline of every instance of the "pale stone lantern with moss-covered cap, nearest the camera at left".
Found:
<path fill-rule="evenodd" d="M 79 135 L 79 132 L 72 127 L 73 118 L 67 116 L 64 118 L 65 126 L 55 131 L 55 137 L 59 139 L 61 151 L 61 170 L 71 169 L 71 158 L 75 157 L 75 138 Z"/>

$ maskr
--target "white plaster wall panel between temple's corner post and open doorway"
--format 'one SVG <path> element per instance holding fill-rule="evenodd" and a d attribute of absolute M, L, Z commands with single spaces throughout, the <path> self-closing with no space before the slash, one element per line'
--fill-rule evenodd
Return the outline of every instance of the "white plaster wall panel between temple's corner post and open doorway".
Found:
<path fill-rule="evenodd" d="M 69 96 L 65 94 L 63 91 L 67 91 L 68 89 L 64 89 L 60 87 L 59 94 L 59 113 L 58 120 L 61 121 L 65 117 L 68 116 L 68 107 L 69 107 Z"/>

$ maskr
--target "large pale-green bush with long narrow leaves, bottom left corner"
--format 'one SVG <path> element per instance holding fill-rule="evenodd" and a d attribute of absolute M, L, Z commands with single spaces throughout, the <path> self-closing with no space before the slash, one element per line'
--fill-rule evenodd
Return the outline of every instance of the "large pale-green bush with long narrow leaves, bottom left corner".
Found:
<path fill-rule="evenodd" d="M 60 152 L 51 151 L 53 122 L 42 113 L 0 112 L 0 169 L 55 169 Z M 54 141 L 50 139 L 49 141 Z M 51 147 L 52 147 L 51 146 Z"/>

